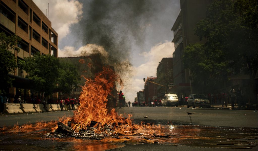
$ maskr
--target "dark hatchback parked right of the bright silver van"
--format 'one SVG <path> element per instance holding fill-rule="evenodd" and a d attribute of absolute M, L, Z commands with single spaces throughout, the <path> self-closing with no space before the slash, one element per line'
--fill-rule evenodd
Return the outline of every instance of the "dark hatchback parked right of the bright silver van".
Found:
<path fill-rule="evenodd" d="M 211 107 L 211 104 L 204 94 L 191 94 L 187 99 L 187 107 L 189 106 Z"/>

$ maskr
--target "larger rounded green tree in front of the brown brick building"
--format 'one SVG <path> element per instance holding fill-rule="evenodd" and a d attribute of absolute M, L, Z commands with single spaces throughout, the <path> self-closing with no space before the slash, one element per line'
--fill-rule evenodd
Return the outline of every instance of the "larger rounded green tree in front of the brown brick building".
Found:
<path fill-rule="evenodd" d="M 34 57 L 26 57 L 22 67 L 28 73 L 27 78 L 32 80 L 33 90 L 41 96 L 49 96 L 57 88 L 60 67 L 58 58 L 38 53 Z"/>

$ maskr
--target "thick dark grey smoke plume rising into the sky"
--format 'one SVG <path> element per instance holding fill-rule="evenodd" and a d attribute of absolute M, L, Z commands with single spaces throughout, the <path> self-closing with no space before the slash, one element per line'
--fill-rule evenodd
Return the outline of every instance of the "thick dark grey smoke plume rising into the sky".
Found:
<path fill-rule="evenodd" d="M 154 12 L 151 1 L 93 0 L 82 1 L 83 18 L 72 30 L 82 44 L 102 46 L 109 61 L 116 63 L 130 58 L 131 46 L 140 46 Z"/>

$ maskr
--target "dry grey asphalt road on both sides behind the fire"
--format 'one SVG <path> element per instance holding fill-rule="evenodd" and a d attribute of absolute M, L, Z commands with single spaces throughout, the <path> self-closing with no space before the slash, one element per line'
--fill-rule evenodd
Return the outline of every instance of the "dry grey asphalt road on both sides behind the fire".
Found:
<path fill-rule="evenodd" d="M 186 107 L 123 107 L 118 113 L 132 114 L 135 123 L 173 123 L 190 124 L 186 112 L 192 113 L 191 119 L 195 125 L 229 126 L 229 127 L 253 127 L 257 128 L 257 112 L 252 110 L 225 110 L 210 108 L 186 108 Z M 124 114 L 125 113 L 125 114 Z M 58 111 L 29 114 L 3 114 L 0 116 L 0 127 L 13 126 L 14 124 L 35 123 L 37 121 L 58 120 L 62 116 L 72 116 L 72 111 Z M 148 118 L 143 118 L 148 116 Z"/>

